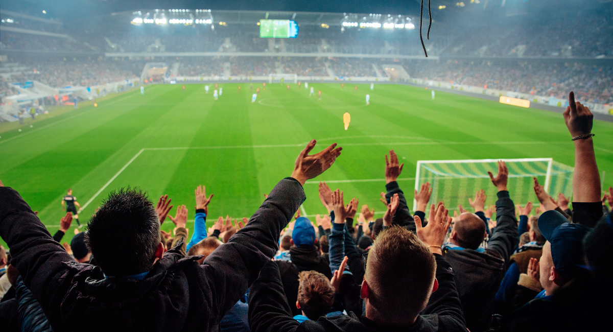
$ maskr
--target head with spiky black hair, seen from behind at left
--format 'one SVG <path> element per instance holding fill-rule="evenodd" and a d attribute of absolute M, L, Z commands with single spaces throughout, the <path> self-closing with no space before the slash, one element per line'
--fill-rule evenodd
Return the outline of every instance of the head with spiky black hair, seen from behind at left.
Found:
<path fill-rule="evenodd" d="M 131 276 L 151 269 L 164 254 L 153 203 L 139 189 L 109 194 L 91 217 L 86 235 L 91 254 L 107 276 Z"/>

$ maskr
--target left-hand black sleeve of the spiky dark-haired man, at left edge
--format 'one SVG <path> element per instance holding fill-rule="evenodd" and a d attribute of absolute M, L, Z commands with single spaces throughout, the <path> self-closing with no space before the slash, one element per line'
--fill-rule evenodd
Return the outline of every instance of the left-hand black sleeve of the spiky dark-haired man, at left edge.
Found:
<path fill-rule="evenodd" d="M 72 279 L 63 262 L 74 262 L 28 203 L 10 187 L 0 187 L 0 237 L 10 248 L 10 263 L 40 303 L 54 330 L 62 330 L 59 306 Z"/>

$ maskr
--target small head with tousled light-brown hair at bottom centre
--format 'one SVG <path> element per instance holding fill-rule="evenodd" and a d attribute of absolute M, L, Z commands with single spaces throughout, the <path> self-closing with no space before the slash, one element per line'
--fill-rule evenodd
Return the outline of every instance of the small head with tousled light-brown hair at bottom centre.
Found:
<path fill-rule="evenodd" d="M 334 290 L 328 278 L 316 271 L 302 271 L 298 279 L 296 307 L 310 320 L 325 316 L 334 302 Z"/>

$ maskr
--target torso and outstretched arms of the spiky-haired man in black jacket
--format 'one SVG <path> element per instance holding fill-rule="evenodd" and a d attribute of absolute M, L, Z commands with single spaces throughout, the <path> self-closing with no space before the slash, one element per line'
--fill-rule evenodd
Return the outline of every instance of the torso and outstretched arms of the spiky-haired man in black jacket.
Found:
<path fill-rule="evenodd" d="M 116 257 L 117 262 L 98 260 L 104 254 L 97 253 L 96 246 L 92 253 L 99 266 L 74 262 L 17 191 L 2 183 L 0 236 L 55 331 L 216 331 L 219 320 L 275 254 L 281 229 L 305 200 L 302 184 L 327 170 L 340 154 L 341 148 L 333 144 L 309 156 L 315 143 L 303 149 L 291 178 L 275 186 L 248 225 L 202 265 L 199 256 L 181 259 L 177 247 L 162 255 L 163 244 L 153 237 L 159 236 L 159 221 L 149 200 L 135 200 L 142 219 L 126 219 L 143 232 L 128 232 L 134 236 L 130 239 L 107 230 L 122 237 L 115 242 L 120 250 L 131 246 L 122 241 L 143 243 L 140 252 L 147 256 L 132 263 L 153 260 L 144 271 L 116 268 L 126 266 L 134 253 Z M 99 226 L 97 230 L 105 232 L 104 223 Z M 90 227 L 90 240 L 100 235 Z"/>

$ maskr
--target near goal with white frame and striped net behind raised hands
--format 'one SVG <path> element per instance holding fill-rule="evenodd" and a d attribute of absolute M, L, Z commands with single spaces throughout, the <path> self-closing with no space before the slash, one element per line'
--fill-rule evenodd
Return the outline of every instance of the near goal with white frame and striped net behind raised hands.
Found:
<path fill-rule="evenodd" d="M 516 204 L 527 202 L 538 204 L 534 192 L 533 179 L 536 177 L 545 191 L 557 199 L 562 192 L 567 197 L 572 194 L 573 167 L 556 162 L 551 158 L 502 159 L 509 169 L 507 187 L 511 199 Z M 497 189 L 492 185 L 488 171 L 494 176 L 498 173 L 498 159 L 473 160 L 419 160 L 415 176 L 415 189 L 423 183 L 430 183 L 432 196 L 429 203 L 445 203 L 449 210 L 458 205 L 469 209 L 468 198 L 474 199 L 479 189 L 485 189 L 486 205 L 497 200 Z M 468 207 L 468 208 L 467 208 Z M 417 208 L 413 200 L 413 211 Z M 469 209 L 470 210 L 470 209 Z"/>

